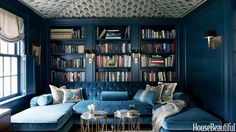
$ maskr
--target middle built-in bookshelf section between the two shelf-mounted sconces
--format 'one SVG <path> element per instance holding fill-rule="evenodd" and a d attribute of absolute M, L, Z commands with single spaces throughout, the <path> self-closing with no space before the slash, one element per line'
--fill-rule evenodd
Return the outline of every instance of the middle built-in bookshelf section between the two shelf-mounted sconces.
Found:
<path fill-rule="evenodd" d="M 96 27 L 96 81 L 131 81 L 129 26 Z"/>

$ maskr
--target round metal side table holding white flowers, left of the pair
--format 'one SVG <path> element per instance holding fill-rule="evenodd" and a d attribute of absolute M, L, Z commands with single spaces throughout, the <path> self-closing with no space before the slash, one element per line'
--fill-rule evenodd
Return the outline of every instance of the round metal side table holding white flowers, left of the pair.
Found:
<path fill-rule="evenodd" d="M 94 114 L 84 112 L 80 116 L 81 132 L 107 131 L 107 112 L 96 110 Z M 93 125 L 96 125 L 95 128 Z"/>

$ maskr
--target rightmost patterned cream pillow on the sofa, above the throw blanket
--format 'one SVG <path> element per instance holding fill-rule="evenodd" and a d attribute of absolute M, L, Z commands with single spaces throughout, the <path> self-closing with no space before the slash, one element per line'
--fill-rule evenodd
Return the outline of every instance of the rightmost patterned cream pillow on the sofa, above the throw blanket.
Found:
<path fill-rule="evenodd" d="M 177 83 L 162 83 L 159 82 L 158 85 L 163 84 L 163 90 L 161 94 L 161 103 L 167 103 L 173 100 L 173 93 L 177 86 Z"/>

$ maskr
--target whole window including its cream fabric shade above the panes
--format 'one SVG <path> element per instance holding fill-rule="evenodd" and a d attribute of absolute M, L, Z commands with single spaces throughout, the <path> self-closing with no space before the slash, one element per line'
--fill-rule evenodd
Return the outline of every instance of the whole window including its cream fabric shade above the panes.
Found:
<path fill-rule="evenodd" d="M 23 32 L 23 19 L 0 8 L 0 101 L 24 93 Z"/>

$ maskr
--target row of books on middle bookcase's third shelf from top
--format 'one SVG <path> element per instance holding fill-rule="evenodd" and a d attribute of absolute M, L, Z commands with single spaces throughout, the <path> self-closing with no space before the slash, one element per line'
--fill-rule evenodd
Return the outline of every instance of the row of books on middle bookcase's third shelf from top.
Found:
<path fill-rule="evenodd" d="M 130 55 L 97 56 L 97 67 L 131 67 Z"/>

